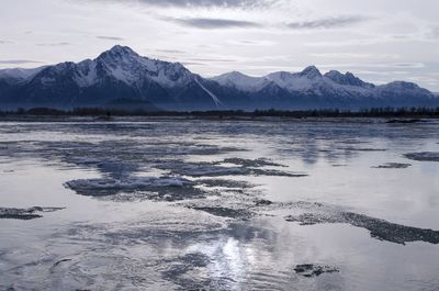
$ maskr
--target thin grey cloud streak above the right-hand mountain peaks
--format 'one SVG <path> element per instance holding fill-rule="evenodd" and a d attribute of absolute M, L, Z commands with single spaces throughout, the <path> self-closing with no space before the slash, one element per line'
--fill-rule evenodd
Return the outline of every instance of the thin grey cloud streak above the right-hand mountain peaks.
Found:
<path fill-rule="evenodd" d="M 286 26 L 293 30 L 318 30 L 318 29 L 337 29 L 353 25 L 369 20 L 361 15 L 336 16 L 318 20 L 307 20 L 301 22 L 291 22 Z"/>

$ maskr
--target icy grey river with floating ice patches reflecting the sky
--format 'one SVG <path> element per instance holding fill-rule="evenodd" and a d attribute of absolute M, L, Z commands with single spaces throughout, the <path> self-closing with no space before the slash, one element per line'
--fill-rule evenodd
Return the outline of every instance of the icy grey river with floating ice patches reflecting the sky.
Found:
<path fill-rule="evenodd" d="M 0 208 L 0 290 L 439 290 L 439 123 L 4 122 Z"/>

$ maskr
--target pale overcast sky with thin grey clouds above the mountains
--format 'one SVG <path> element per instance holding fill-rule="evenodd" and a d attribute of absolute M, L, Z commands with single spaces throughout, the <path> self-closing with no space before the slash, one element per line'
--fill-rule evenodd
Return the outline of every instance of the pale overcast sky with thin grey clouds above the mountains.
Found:
<path fill-rule="evenodd" d="M 315 65 L 439 92 L 438 11 L 438 0 L 1 0 L 0 68 L 121 44 L 204 77 Z"/>

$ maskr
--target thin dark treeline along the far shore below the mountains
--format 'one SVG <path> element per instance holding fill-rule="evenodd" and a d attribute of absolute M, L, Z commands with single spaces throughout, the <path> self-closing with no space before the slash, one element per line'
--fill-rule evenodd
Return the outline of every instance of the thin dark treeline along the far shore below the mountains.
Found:
<path fill-rule="evenodd" d="M 255 111 L 123 111 L 99 108 L 77 108 L 59 110 L 50 108 L 18 109 L 0 111 L 0 116 L 203 116 L 203 117 L 439 117 L 439 108 L 372 108 L 358 111 L 320 109 L 320 110 L 255 110 Z"/>

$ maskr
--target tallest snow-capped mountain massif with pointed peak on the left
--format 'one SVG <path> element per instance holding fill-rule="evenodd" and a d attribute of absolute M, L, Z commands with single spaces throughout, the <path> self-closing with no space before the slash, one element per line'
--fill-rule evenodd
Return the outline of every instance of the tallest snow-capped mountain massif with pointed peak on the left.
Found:
<path fill-rule="evenodd" d="M 0 76 L 7 72 L 0 70 Z M 67 61 L 31 74 L 8 74 L 0 103 L 10 107 L 97 107 L 114 100 L 138 100 L 164 109 L 211 109 L 221 101 L 204 79 L 179 63 L 142 57 L 116 45 L 78 64 Z"/>

